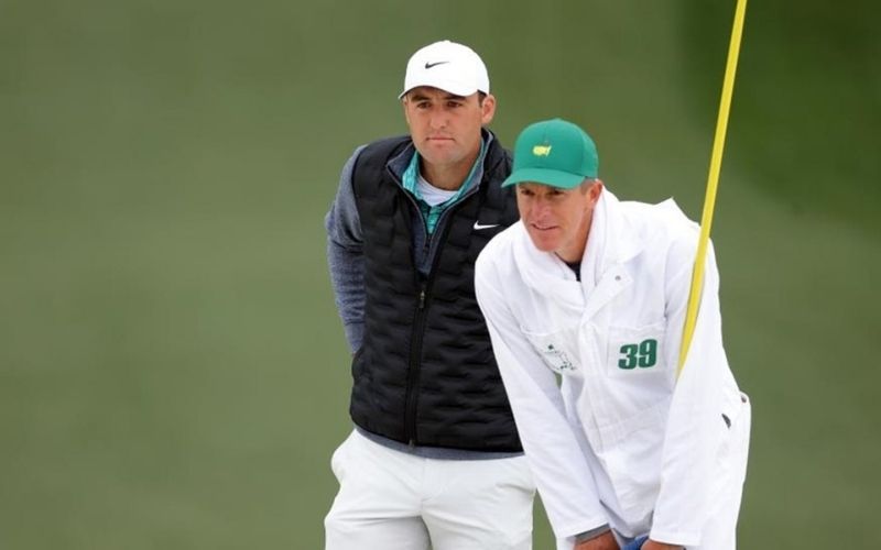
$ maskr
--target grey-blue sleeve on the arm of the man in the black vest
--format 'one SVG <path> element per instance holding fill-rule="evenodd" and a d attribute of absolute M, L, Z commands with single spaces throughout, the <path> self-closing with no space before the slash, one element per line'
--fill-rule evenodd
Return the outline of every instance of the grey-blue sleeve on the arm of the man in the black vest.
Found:
<path fill-rule="evenodd" d="M 324 220 L 327 230 L 327 266 L 330 271 L 334 299 L 352 352 L 361 346 L 365 326 L 363 235 L 351 188 L 355 161 L 363 147 L 358 147 L 342 166 L 337 196 Z"/>

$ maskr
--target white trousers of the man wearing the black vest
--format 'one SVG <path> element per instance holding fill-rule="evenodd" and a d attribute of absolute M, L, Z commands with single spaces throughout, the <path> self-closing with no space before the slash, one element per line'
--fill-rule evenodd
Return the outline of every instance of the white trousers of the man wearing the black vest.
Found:
<path fill-rule="evenodd" d="M 334 452 L 325 550 L 530 550 L 535 485 L 524 457 L 436 460 L 357 431 Z"/>

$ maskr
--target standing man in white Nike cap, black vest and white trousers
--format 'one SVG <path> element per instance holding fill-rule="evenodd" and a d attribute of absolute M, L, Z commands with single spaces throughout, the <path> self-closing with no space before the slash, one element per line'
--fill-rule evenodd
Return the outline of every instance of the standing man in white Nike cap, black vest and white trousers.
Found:
<path fill-rule="evenodd" d="M 409 134 L 356 150 L 326 218 L 355 426 L 325 549 L 530 550 L 535 484 L 474 292 L 478 253 L 518 220 L 496 97 L 449 41 L 403 84 Z"/>

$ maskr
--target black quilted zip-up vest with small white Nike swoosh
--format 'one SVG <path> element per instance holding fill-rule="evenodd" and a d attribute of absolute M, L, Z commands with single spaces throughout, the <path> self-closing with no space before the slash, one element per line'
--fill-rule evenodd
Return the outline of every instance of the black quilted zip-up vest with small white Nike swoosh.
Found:
<path fill-rule="evenodd" d="M 393 138 L 368 145 L 352 173 L 367 294 L 351 418 L 414 446 L 521 451 L 474 287 L 477 255 L 518 220 L 513 191 L 501 188 L 511 158 L 492 140 L 477 193 L 449 207 L 435 229 L 440 244 L 424 277 L 413 255 L 414 221 L 422 223 L 415 198 L 387 166 L 410 143 Z"/>

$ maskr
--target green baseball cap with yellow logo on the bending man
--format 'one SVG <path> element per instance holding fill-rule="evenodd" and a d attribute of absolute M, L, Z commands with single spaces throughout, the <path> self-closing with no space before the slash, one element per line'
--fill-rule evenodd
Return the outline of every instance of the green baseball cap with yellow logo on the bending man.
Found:
<path fill-rule="evenodd" d="M 599 177 L 594 140 L 578 125 L 563 119 L 526 127 L 514 145 L 514 167 L 502 187 L 534 182 L 572 189 L 586 178 Z"/>

